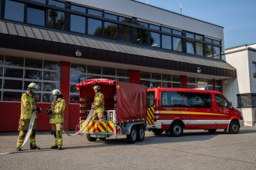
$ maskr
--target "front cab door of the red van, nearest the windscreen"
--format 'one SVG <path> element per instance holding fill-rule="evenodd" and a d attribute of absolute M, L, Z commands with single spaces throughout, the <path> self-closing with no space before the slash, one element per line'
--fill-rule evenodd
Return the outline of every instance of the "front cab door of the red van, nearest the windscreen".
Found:
<path fill-rule="evenodd" d="M 230 123 L 230 103 L 221 94 L 215 94 L 215 110 L 217 122 L 215 129 L 227 129 Z"/>

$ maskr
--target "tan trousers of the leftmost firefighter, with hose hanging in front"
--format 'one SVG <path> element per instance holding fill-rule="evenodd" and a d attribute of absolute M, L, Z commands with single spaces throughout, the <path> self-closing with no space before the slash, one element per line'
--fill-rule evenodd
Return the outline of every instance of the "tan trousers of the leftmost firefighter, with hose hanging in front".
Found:
<path fill-rule="evenodd" d="M 17 140 L 17 145 L 16 145 L 17 148 L 20 147 L 21 145 L 23 145 L 26 133 L 28 132 L 28 129 L 29 129 L 29 121 L 30 121 L 30 119 L 26 119 L 26 120 L 22 120 L 22 121 L 19 122 L 19 131 L 20 131 L 20 133 L 19 133 L 19 137 L 18 137 L 18 140 Z M 36 146 L 36 142 L 35 142 L 36 130 L 35 130 L 35 127 L 36 127 L 36 119 L 35 119 L 35 122 L 34 122 L 32 133 L 30 135 L 30 146 L 31 147 Z"/>

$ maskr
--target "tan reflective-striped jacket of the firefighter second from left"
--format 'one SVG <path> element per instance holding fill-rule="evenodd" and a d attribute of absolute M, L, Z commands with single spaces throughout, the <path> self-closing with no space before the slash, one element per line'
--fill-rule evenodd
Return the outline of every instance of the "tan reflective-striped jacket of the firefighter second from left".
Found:
<path fill-rule="evenodd" d="M 63 123 L 63 113 L 66 108 L 66 102 L 62 98 L 54 100 L 50 109 L 53 114 L 50 115 L 50 124 L 62 124 Z"/>

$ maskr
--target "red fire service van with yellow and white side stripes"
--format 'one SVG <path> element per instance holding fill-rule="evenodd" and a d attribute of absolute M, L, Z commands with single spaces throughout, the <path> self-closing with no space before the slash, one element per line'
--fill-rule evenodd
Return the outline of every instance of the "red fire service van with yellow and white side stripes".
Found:
<path fill-rule="evenodd" d="M 184 129 L 238 133 L 243 126 L 241 112 L 218 91 L 148 88 L 147 100 L 147 127 L 155 134 L 181 136 Z"/>

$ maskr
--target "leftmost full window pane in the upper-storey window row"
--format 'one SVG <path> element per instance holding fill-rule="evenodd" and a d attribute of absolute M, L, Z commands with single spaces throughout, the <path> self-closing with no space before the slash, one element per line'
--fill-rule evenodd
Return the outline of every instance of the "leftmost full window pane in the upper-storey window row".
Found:
<path fill-rule="evenodd" d="M 25 4 L 6 0 L 5 1 L 5 19 L 13 21 L 24 22 Z"/>

